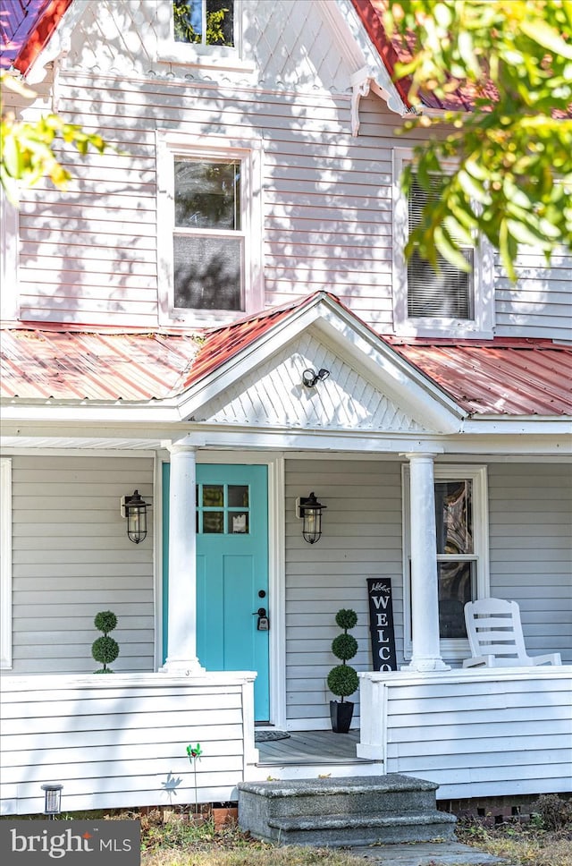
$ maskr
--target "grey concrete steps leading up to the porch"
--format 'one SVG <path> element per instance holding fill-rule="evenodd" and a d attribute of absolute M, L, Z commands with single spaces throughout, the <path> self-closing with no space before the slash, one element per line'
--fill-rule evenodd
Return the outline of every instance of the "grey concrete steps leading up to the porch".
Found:
<path fill-rule="evenodd" d="M 438 785 L 377 777 L 241 782 L 239 824 L 252 836 L 292 845 L 371 845 L 451 838 L 455 818 L 438 811 Z"/>

